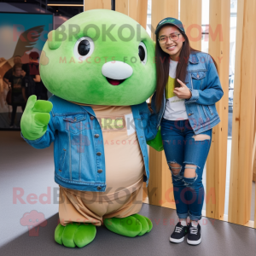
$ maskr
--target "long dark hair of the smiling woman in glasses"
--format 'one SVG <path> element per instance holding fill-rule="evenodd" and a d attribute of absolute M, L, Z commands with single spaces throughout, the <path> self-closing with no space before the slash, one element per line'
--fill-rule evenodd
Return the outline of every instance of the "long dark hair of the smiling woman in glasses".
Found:
<path fill-rule="evenodd" d="M 176 60 L 178 62 L 177 62 L 177 70 L 176 70 L 175 87 L 180 87 L 180 84 L 177 82 L 177 79 L 184 82 L 186 78 L 186 72 L 189 64 L 190 53 L 201 52 L 201 50 L 193 49 L 189 44 L 189 38 L 187 37 L 187 35 L 180 29 L 178 30 L 183 35 L 183 38 L 185 39 L 185 41 L 183 42 L 183 47 L 180 51 L 179 58 L 178 60 Z M 155 107 L 156 107 L 156 111 L 159 112 L 161 102 L 162 102 L 162 96 L 164 94 L 166 83 L 169 78 L 170 55 L 168 55 L 166 52 L 164 52 L 160 48 L 160 44 L 157 38 L 159 38 L 159 33 L 157 33 L 156 35 L 156 44 L 155 44 L 155 64 L 156 64 L 156 75 L 157 75 Z M 214 61 L 213 58 L 212 58 L 212 61 L 214 62 L 215 67 L 217 68 L 216 61 Z"/>

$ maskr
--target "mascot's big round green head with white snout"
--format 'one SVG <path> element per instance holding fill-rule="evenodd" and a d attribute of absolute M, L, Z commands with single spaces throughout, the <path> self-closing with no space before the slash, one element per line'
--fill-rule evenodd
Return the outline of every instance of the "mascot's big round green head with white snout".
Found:
<path fill-rule="evenodd" d="M 127 15 L 92 9 L 49 32 L 40 58 L 47 89 L 70 102 L 129 106 L 154 93 L 154 42 Z"/>

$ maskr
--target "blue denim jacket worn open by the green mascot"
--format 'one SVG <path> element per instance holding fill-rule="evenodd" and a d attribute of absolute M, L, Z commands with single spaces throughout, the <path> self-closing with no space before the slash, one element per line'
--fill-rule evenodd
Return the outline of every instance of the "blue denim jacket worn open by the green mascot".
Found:
<path fill-rule="evenodd" d="M 102 128 L 93 109 L 67 102 L 57 96 L 51 96 L 49 102 L 53 103 L 53 109 L 44 136 L 33 141 L 27 140 L 22 134 L 21 137 L 34 148 L 47 148 L 54 142 L 56 183 L 68 189 L 105 191 L 106 166 Z M 146 142 L 156 136 L 156 116 L 150 115 L 147 102 L 131 106 L 131 111 L 148 185 Z"/>

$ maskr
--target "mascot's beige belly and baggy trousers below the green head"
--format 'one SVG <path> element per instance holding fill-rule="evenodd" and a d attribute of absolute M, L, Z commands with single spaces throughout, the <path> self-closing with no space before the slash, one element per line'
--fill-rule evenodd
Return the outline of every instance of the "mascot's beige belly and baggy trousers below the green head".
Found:
<path fill-rule="evenodd" d="M 130 106 L 90 106 L 102 127 L 106 192 L 60 187 L 60 221 L 101 225 L 104 218 L 124 218 L 143 203 L 144 162 Z"/>

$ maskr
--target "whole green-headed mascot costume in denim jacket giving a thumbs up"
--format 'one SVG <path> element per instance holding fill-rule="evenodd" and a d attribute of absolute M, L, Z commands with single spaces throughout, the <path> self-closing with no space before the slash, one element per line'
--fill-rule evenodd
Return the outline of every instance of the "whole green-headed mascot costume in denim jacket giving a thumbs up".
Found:
<path fill-rule="evenodd" d="M 34 148 L 54 142 L 55 241 L 84 247 L 102 224 L 143 236 L 152 229 L 137 214 L 148 185 L 147 142 L 158 134 L 145 102 L 156 85 L 154 42 L 130 17 L 93 9 L 49 32 L 39 65 L 53 96 L 30 96 L 20 126 Z"/>

